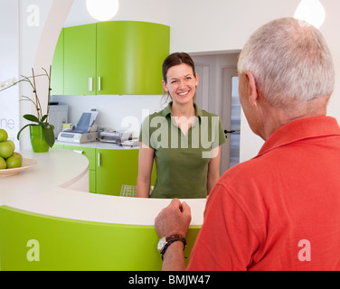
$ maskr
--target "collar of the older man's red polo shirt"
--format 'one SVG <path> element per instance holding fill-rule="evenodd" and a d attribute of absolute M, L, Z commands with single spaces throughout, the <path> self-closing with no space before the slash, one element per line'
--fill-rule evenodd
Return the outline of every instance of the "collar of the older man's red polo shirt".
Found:
<path fill-rule="evenodd" d="M 334 117 L 300 118 L 279 127 L 278 130 L 270 135 L 261 147 L 258 156 L 282 145 L 326 135 L 340 135 L 340 127 Z"/>

